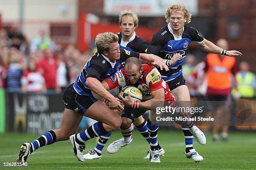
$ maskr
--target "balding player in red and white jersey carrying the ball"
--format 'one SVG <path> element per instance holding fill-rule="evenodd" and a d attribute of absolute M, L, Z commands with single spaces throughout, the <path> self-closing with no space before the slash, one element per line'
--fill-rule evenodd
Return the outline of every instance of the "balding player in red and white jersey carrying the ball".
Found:
<path fill-rule="evenodd" d="M 176 61 L 177 60 L 179 59 L 176 59 Z M 159 71 L 154 66 L 147 64 L 141 65 L 141 62 L 135 57 L 126 60 L 125 67 L 115 73 L 112 77 L 102 81 L 102 85 L 106 90 L 118 86 L 125 87 L 131 85 L 138 88 L 125 87 L 120 92 L 120 101 L 125 104 L 124 112 L 121 115 L 122 125 L 120 126 L 123 138 L 111 143 L 107 148 L 108 153 L 116 153 L 120 148 L 123 148 L 132 142 L 132 122 L 136 117 L 143 115 L 146 110 L 151 110 L 151 102 L 170 101 L 169 105 L 175 105 L 175 98 L 169 90 L 168 84 L 161 79 Z M 139 90 L 142 92 L 143 96 L 141 102 L 139 102 L 141 99 Z M 162 105 L 161 102 L 159 103 Z M 178 114 L 182 114 L 183 117 L 188 117 L 186 113 Z M 150 114 L 147 120 L 151 152 L 149 160 L 150 162 L 160 163 L 159 150 L 157 148 L 157 131 L 159 125 L 154 115 L 155 114 Z M 194 125 L 192 121 L 177 123 L 185 125 L 188 128 L 192 128 Z"/>

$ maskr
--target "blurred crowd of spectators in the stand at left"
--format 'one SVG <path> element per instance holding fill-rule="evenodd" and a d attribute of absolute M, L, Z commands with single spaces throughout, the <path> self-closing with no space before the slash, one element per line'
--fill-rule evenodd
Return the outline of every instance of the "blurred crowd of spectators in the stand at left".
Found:
<path fill-rule="evenodd" d="M 92 56 L 74 45 L 55 44 L 44 30 L 31 42 L 12 25 L 0 30 L 0 88 L 9 92 L 60 93 Z"/>

